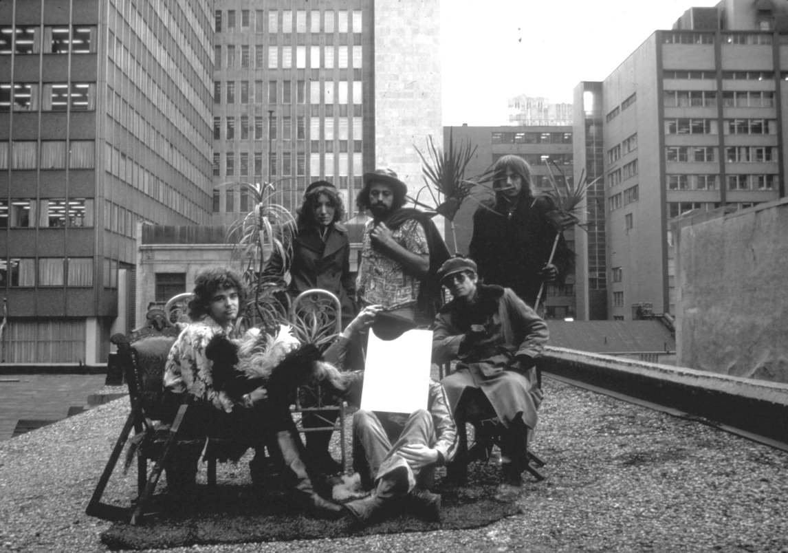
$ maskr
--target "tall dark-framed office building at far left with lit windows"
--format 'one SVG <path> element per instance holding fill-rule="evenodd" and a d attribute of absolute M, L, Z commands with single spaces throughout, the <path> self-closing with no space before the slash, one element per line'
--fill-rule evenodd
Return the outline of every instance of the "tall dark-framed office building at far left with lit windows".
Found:
<path fill-rule="evenodd" d="M 0 361 L 106 362 L 136 221 L 210 220 L 213 25 L 199 0 L 0 2 Z"/>

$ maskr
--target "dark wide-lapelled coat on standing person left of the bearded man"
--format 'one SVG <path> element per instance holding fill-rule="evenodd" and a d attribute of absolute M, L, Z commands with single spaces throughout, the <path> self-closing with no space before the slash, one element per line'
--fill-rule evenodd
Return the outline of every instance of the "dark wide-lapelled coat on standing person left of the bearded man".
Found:
<path fill-rule="evenodd" d="M 286 270 L 281 255 L 274 252 L 262 276 L 284 280 Z M 355 280 L 350 273 L 350 241 L 344 227 L 332 225 L 325 243 L 314 226 L 300 228 L 293 239 L 289 270 L 288 291 L 293 298 L 310 288 L 322 288 L 340 299 L 343 322 L 355 317 Z"/>

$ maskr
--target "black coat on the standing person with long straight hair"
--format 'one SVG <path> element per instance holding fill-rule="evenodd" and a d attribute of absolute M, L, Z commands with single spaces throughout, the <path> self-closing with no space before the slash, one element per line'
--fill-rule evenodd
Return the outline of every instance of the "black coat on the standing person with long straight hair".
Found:
<path fill-rule="evenodd" d="M 500 210 L 500 206 L 496 206 Z M 511 213 L 480 207 L 474 213 L 474 235 L 470 239 L 468 257 L 478 265 L 485 284 L 511 288 L 528 305 L 539 293 L 539 271 L 548 262 L 556 239 L 556 225 L 548 213 L 555 210 L 552 199 L 521 195 Z M 571 266 L 572 252 L 563 233 L 552 264 L 556 265 L 559 281 Z M 544 292 L 543 292 L 544 297 Z"/>

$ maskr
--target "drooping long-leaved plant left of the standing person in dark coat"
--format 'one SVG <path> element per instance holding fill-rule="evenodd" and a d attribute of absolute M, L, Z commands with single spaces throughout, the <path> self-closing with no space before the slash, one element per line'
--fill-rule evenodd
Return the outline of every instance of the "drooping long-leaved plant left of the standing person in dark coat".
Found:
<path fill-rule="evenodd" d="M 228 237 L 235 244 L 233 253 L 250 291 L 245 311 L 251 321 L 247 325 L 273 331 L 278 325 L 288 324 L 287 301 L 281 301 L 288 295 L 282 276 L 264 277 L 262 269 L 274 252 L 281 256 L 283 266 L 289 267 L 296 218 L 287 208 L 273 202 L 273 184 L 241 183 L 241 186 L 250 192 L 254 206 L 230 226 Z"/>

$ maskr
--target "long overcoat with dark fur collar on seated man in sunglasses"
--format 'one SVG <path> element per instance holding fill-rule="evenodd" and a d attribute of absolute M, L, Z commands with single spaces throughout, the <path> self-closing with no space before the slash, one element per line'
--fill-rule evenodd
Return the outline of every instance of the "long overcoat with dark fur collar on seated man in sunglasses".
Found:
<path fill-rule="evenodd" d="M 535 359 L 548 340 L 545 321 L 519 299 L 510 288 L 479 284 L 478 301 L 448 302 L 435 317 L 433 362 L 458 359 L 456 370 L 444 384 L 452 412 L 466 388 L 479 388 L 487 396 L 504 426 L 522 414 L 533 429 L 542 399 L 536 369 L 518 369 L 517 356 Z M 483 325 L 485 338 L 466 340 L 470 325 Z"/>

